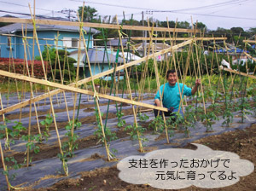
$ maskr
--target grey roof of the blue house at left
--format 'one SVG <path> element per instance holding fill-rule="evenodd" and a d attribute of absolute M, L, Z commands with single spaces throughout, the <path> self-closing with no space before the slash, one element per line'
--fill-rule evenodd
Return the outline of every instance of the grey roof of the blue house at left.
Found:
<path fill-rule="evenodd" d="M 23 25 L 24 30 L 32 31 L 33 26 L 31 24 Z M 8 26 L 3 26 L 0 28 L 0 33 L 14 33 L 20 32 L 22 30 L 21 23 L 15 23 Z M 55 26 L 55 25 L 37 25 L 37 31 L 63 31 L 63 32 L 79 32 L 79 26 Z M 94 34 L 100 33 L 100 31 L 90 28 L 84 27 L 84 31 L 92 32 Z"/>

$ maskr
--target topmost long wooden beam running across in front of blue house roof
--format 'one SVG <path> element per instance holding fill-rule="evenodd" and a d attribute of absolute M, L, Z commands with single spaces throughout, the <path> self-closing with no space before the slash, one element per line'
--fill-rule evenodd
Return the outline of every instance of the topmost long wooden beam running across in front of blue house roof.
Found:
<path fill-rule="evenodd" d="M 0 22 L 15 22 L 15 23 L 27 23 L 32 24 L 31 19 L 20 19 L 20 18 L 9 18 L 1 17 Z M 80 26 L 79 22 L 64 21 L 64 20 L 36 20 L 39 25 L 56 25 L 56 26 Z M 92 28 L 109 28 L 109 29 L 120 29 L 119 25 L 113 24 L 102 24 L 102 23 L 91 23 L 84 22 L 84 27 Z M 122 26 L 124 30 L 133 30 L 133 31 L 148 31 L 151 30 L 150 26 Z M 165 28 L 165 27 L 154 27 L 154 32 L 200 32 L 200 30 L 193 29 L 183 29 L 183 28 Z"/>

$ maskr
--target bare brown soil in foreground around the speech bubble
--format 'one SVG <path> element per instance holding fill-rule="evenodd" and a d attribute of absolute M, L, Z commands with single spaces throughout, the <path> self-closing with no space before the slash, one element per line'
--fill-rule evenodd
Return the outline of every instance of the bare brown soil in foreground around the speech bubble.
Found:
<path fill-rule="evenodd" d="M 256 164 L 256 124 L 245 130 L 228 131 L 218 136 L 207 136 L 195 141 L 207 145 L 213 150 L 223 150 L 232 153 L 237 153 L 241 159 L 248 159 L 253 164 Z M 188 144 L 185 148 L 195 149 L 194 145 Z M 91 156 L 91 159 L 98 159 L 101 156 Z M 96 169 L 95 171 L 81 172 L 81 177 L 78 179 L 66 179 L 55 183 L 50 188 L 34 189 L 38 191 L 54 191 L 54 190 L 161 190 L 152 188 L 149 185 L 135 185 L 123 182 L 119 179 L 119 170 L 116 166 Z M 225 188 L 215 188 L 211 190 L 227 190 L 227 191 L 246 191 L 256 190 L 256 171 L 247 177 L 241 177 L 240 182 Z M 26 190 L 30 190 L 27 188 Z M 190 190 L 206 190 L 205 188 L 195 188 L 194 186 L 181 191 Z"/>

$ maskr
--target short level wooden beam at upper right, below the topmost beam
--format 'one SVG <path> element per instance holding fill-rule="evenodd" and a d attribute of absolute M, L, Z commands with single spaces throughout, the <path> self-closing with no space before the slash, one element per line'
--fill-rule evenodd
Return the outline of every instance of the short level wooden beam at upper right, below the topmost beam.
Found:
<path fill-rule="evenodd" d="M 143 38 L 143 37 L 131 37 L 131 40 L 164 40 L 164 41 L 169 41 L 169 40 L 189 40 L 192 38 Z M 208 41 L 208 40 L 226 40 L 227 38 L 194 38 L 195 40 L 204 40 L 204 41 Z"/>

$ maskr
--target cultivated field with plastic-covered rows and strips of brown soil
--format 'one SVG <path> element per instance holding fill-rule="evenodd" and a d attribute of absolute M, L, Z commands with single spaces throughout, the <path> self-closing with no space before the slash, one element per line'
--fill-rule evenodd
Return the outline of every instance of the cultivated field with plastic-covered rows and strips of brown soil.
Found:
<path fill-rule="evenodd" d="M 25 94 L 25 97 L 29 96 L 30 94 Z M 121 94 L 119 96 L 121 96 Z M 127 95 L 124 95 L 124 97 L 125 96 Z M 253 102 L 252 97 L 246 99 L 250 101 L 252 106 L 254 106 L 255 103 Z M 9 96 L 9 100 L 17 101 L 18 99 L 13 94 Z M 69 116 L 73 116 L 73 93 L 67 92 L 66 100 L 69 109 L 68 114 Z M 65 142 L 68 142 L 70 138 L 70 136 L 68 136 L 67 128 L 66 104 L 64 104 L 63 95 L 53 96 L 52 101 L 55 103 L 55 119 L 57 121 L 61 143 L 62 145 L 65 145 Z M 7 106 L 7 102 L 7 98 L 3 96 L 3 105 Z M 154 94 L 144 94 L 143 102 L 153 104 Z M 188 105 L 195 106 L 195 97 L 189 98 L 187 102 Z M 220 100 L 217 102 L 224 104 Z M 117 104 L 118 107 L 120 107 L 121 103 Z M 208 105 L 211 104 L 208 103 Z M 102 121 L 104 122 L 108 109 L 108 100 L 100 99 L 99 106 L 102 112 Z M 106 150 L 102 145 L 102 138 L 96 136 L 98 127 L 96 125 L 96 108 L 93 97 L 85 95 L 81 97 L 78 119 L 81 125 L 74 130 L 74 135 L 77 136 L 77 140 L 75 140 L 74 145 L 77 145 L 76 148 L 74 148 L 72 158 L 67 156 L 67 177 L 64 176 L 65 172 L 61 168 L 61 160 L 56 157 L 58 153 L 60 153 L 60 150 L 57 143 L 58 138 L 56 136 L 55 125 L 53 124 L 52 118 L 47 118 L 47 115 L 45 114 L 50 111 L 49 99 L 39 101 L 37 107 L 38 120 L 41 122 L 45 121 L 45 119 L 49 119 L 50 123 L 47 127 L 48 130 L 46 129 L 46 125 L 42 125 L 42 122 L 40 123 L 42 130 L 41 133 L 44 135 L 41 142 L 38 142 L 36 138 L 31 141 L 33 144 L 30 148 L 29 157 L 31 162 L 29 163 L 29 167 L 26 167 L 27 157 L 25 155 L 27 146 L 26 129 L 19 131 L 15 130 L 14 126 L 17 124 L 17 121 L 24 127 L 28 126 L 30 108 L 29 106 L 22 108 L 21 116 L 19 110 L 5 115 L 6 119 L 10 120 L 9 123 L 7 123 L 7 126 L 10 129 L 13 129 L 14 133 L 19 132 L 19 136 L 16 136 L 13 139 L 10 138 L 9 140 L 11 149 L 9 150 L 6 148 L 6 150 L 3 151 L 4 156 L 10 160 L 6 160 L 6 165 L 12 169 L 15 168 L 15 165 L 17 164 L 23 164 L 19 166 L 17 170 L 9 170 L 9 177 L 12 185 L 28 187 L 27 189 L 29 190 L 32 188 L 51 187 L 53 184 L 58 182 L 49 190 L 68 190 L 68 187 L 70 187 L 70 190 L 74 187 L 78 190 L 83 190 L 84 188 L 87 188 L 88 190 L 112 190 L 114 188 L 120 190 L 130 188 L 131 190 L 137 190 L 140 188 L 154 190 L 154 188 L 145 185 L 136 186 L 128 184 L 122 182 L 118 178 L 119 171 L 116 169 L 116 164 L 119 159 L 124 159 L 130 155 L 144 154 L 139 151 L 139 145 L 136 137 L 134 138 L 133 135 L 132 138 L 132 132 L 134 130 L 127 129 L 129 124 L 133 124 L 131 105 L 122 104 L 123 116 L 121 119 L 123 120 L 123 125 L 119 125 L 119 120 L 116 115 L 116 103 L 111 101 L 109 104 L 108 129 L 111 133 L 108 134 L 108 136 L 110 135 L 108 137 L 108 144 L 110 147 L 109 151 L 112 153 L 111 156 L 113 159 L 108 161 Z M 249 159 L 253 162 L 255 160 L 253 158 L 253 144 L 255 144 L 255 133 L 253 132 L 255 124 L 253 123 L 255 123 L 255 118 L 253 116 L 253 107 L 251 107 L 251 110 L 252 114 L 249 115 L 247 113 L 246 117 L 243 119 L 243 123 L 241 123 L 241 111 L 232 111 L 233 120 L 232 122 L 230 121 L 229 126 L 224 124 L 224 119 L 220 113 L 218 115 L 218 120 L 211 120 L 211 129 L 207 127 L 205 122 L 201 123 L 200 119 L 195 122 L 195 125 L 192 125 L 193 127 L 188 124 L 184 124 L 184 122 L 178 124 L 176 128 L 175 126 L 169 126 L 170 143 L 167 143 L 166 134 L 163 129 L 163 121 L 154 119 L 154 113 L 152 110 L 148 111 L 146 108 L 141 108 L 142 112 L 138 117 L 138 126 L 142 129 L 141 139 L 143 142 L 144 152 L 148 153 L 162 148 L 195 149 L 195 146 L 191 146 L 189 143 L 200 142 L 214 150 L 227 150 L 238 153 L 242 159 Z M 77 111 L 78 109 L 75 111 L 76 114 Z M 208 113 L 210 113 L 211 109 L 209 108 L 208 111 Z M 198 107 L 197 115 L 200 116 L 200 107 Z M 189 130 L 189 134 L 187 130 Z M 3 130 L 1 133 L 2 136 L 4 136 Z M 116 137 L 113 138 L 112 141 L 111 136 L 113 136 L 113 133 L 115 133 L 114 136 Z M 9 132 L 9 134 L 11 134 L 11 132 Z M 38 136 L 37 119 L 33 107 L 31 117 L 31 136 Z M 3 148 L 6 147 L 4 141 L 6 142 L 6 140 L 3 140 L 2 142 Z M 1 165 L 1 167 L 3 168 L 3 165 Z M 253 176 L 255 177 L 255 172 L 249 177 Z M 113 179 L 113 177 L 115 178 Z M 242 179 L 245 179 L 244 181 L 246 181 L 247 177 L 242 177 Z M 244 188 L 247 188 L 247 186 L 255 188 L 255 185 L 252 185 L 252 183 L 244 185 L 239 182 L 237 184 L 240 185 L 240 190 L 243 190 L 242 186 Z M 234 187 L 237 188 L 236 186 Z M 3 188 L 3 190 L 6 188 L 3 175 L 1 176 L 1 188 Z M 233 188 L 233 186 L 230 186 L 230 188 Z"/>

